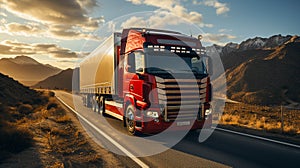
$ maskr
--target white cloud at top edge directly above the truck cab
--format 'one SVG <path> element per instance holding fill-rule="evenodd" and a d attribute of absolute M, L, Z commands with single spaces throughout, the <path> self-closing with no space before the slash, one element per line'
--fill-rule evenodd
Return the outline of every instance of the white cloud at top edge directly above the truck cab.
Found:
<path fill-rule="evenodd" d="M 192 23 L 200 25 L 203 21 L 202 14 L 196 11 L 188 11 L 179 1 L 162 0 L 127 0 L 135 5 L 147 5 L 159 8 L 159 11 L 168 11 L 178 17 L 182 17 Z M 170 21 L 170 20 L 164 20 Z"/>

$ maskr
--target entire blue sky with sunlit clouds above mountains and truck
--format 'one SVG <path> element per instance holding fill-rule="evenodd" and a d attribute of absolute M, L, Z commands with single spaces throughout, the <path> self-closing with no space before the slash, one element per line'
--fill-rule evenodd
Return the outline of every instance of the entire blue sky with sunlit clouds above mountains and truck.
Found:
<path fill-rule="evenodd" d="M 0 0 L 0 58 L 74 68 L 111 32 L 168 29 L 205 46 L 299 35 L 297 0 Z"/>

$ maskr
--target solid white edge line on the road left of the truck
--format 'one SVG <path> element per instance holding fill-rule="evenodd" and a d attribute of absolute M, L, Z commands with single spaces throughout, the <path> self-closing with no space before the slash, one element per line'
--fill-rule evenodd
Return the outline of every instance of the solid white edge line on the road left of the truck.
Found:
<path fill-rule="evenodd" d="M 68 107 L 70 110 L 73 111 L 78 117 L 80 117 L 84 122 L 89 124 L 92 128 L 94 128 L 99 134 L 101 134 L 103 137 L 105 137 L 108 141 L 110 141 L 113 145 L 115 145 L 117 148 L 119 148 L 124 154 L 126 154 L 128 157 L 130 157 L 135 163 L 140 165 L 143 168 L 148 168 L 149 166 L 146 165 L 144 162 L 142 162 L 140 159 L 138 159 L 136 156 L 134 156 L 131 152 L 129 152 L 127 149 L 125 149 L 122 145 L 120 145 L 117 141 L 112 139 L 109 135 L 101 131 L 99 128 L 97 128 L 94 124 L 92 124 L 90 121 L 88 121 L 85 117 L 83 117 L 81 114 L 79 114 L 77 111 L 75 111 L 72 107 L 67 105 L 62 99 L 55 96 L 61 103 L 63 103 L 66 107 Z"/>

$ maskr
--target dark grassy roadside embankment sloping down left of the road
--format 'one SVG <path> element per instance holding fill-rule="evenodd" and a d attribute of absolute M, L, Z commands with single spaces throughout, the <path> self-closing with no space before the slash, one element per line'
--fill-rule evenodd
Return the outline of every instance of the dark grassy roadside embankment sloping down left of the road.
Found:
<path fill-rule="evenodd" d="M 123 166 L 84 134 L 53 92 L 30 90 L 2 74 L 0 82 L 0 167 Z"/>

